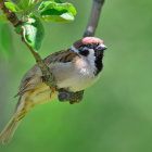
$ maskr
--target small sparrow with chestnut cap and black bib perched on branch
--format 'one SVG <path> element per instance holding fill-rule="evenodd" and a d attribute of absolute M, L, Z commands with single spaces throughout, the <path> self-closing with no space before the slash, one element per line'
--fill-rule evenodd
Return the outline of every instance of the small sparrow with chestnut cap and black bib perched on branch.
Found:
<path fill-rule="evenodd" d="M 71 92 L 85 90 L 94 84 L 103 67 L 103 40 L 85 37 L 63 51 L 47 56 L 43 61 L 52 72 L 59 89 Z M 35 65 L 23 77 L 20 86 L 15 113 L 0 134 L 0 141 L 7 143 L 13 137 L 22 118 L 36 105 L 58 99 L 59 91 L 52 91 L 42 80 L 42 73 Z"/>

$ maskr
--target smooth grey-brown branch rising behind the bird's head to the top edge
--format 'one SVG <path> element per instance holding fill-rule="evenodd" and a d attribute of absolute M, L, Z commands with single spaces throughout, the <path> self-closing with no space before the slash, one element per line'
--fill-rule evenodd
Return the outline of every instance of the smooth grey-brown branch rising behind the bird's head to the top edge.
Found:
<path fill-rule="evenodd" d="M 84 33 L 84 37 L 94 36 L 103 3 L 104 0 L 93 0 L 90 18 L 88 21 L 87 28 Z"/>

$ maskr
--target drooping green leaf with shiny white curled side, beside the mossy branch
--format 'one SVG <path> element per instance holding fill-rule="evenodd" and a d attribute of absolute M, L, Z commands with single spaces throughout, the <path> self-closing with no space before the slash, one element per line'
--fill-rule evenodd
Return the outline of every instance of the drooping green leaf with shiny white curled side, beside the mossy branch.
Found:
<path fill-rule="evenodd" d="M 39 50 L 45 36 L 45 29 L 39 18 L 30 14 L 22 29 L 25 41 L 35 50 Z"/>

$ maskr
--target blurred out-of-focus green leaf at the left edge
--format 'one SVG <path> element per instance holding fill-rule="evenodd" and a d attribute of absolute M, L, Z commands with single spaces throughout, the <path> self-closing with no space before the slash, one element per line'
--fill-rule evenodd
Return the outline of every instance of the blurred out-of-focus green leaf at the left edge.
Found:
<path fill-rule="evenodd" d="M 0 25 L 0 52 L 5 59 L 9 59 L 12 54 L 13 45 L 11 30 L 7 24 Z"/>

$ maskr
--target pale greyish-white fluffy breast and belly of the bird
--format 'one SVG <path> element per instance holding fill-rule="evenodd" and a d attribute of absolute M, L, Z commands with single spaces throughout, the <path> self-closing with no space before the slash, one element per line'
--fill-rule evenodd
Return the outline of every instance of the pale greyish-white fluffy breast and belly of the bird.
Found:
<path fill-rule="evenodd" d="M 93 66 L 79 58 L 64 64 L 56 63 L 52 71 L 55 75 L 58 87 L 68 88 L 71 91 L 84 90 L 97 80 L 93 74 Z"/>

